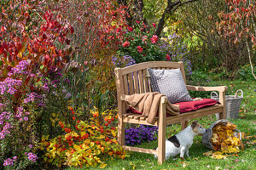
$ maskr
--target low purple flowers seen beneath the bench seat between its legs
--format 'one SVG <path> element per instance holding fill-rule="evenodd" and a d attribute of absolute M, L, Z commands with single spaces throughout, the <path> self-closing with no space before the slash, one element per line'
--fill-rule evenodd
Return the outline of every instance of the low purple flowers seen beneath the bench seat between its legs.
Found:
<path fill-rule="evenodd" d="M 142 142 L 150 142 L 154 139 L 157 127 L 150 127 L 147 125 L 140 125 L 139 127 L 131 127 L 125 129 L 125 144 L 134 145 Z"/>

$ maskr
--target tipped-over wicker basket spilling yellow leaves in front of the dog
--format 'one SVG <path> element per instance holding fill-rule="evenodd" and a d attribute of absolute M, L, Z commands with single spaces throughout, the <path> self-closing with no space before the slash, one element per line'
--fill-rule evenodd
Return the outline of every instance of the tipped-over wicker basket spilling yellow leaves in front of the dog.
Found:
<path fill-rule="evenodd" d="M 201 138 L 202 143 L 207 148 L 209 148 L 210 150 L 213 150 L 213 145 L 212 145 L 212 128 L 215 127 L 218 124 L 226 126 L 228 122 L 229 121 L 226 120 L 226 119 L 221 119 L 221 120 L 218 120 L 218 121 L 214 122 L 211 127 L 207 128 L 207 132 L 203 134 L 203 136 Z M 241 132 L 239 130 L 237 130 L 237 129 L 235 130 L 234 136 L 236 136 L 236 138 L 241 140 Z"/>

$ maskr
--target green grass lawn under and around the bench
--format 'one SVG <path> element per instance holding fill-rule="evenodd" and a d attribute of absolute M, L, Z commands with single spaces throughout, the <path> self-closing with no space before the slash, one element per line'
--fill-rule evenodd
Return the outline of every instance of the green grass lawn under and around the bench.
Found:
<path fill-rule="evenodd" d="M 195 82 L 194 85 L 196 85 Z M 242 100 L 242 111 L 240 112 L 239 119 L 230 120 L 237 125 L 237 128 L 247 135 L 256 135 L 256 83 L 255 82 L 241 82 L 241 81 L 222 81 L 222 82 L 204 82 L 201 85 L 205 86 L 216 86 L 225 85 L 228 86 L 228 91 L 226 94 L 233 95 L 236 93 L 237 89 L 243 90 L 244 99 Z M 203 97 L 209 97 L 209 93 L 199 93 Z M 199 94 L 191 94 L 192 97 L 196 97 Z M 207 127 L 216 121 L 215 116 L 207 116 L 204 118 L 199 118 L 198 121 Z M 175 124 L 171 127 L 167 127 L 166 137 L 179 132 L 180 125 Z M 110 158 L 106 163 L 108 164 L 105 169 L 256 169 L 256 147 L 252 144 L 253 139 L 247 140 L 243 139 L 245 144 L 245 150 L 242 150 L 239 156 L 228 156 L 224 160 L 214 160 L 211 157 L 204 156 L 203 153 L 209 151 L 203 144 L 201 144 L 201 137 L 196 137 L 194 139 L 194 144 L 189 149 L 189 158 L 181 160 L 180 158 L 174 158 L 167 160 L 163 165 L 159 165 L 157 160 L 153 155 L 131 152 L 130 157 L 125 160 Z M 247 143 L 247 144 L 246 144 Z M 153 141 L 151 143 L 141 144 L 140 147 L 144 148 L 156 148 L 157 142 Z M 69 168 L 77 169 L 77 168 Z M 79 169 L 100 169 L 99 167 L 90 168 L 79 168 Z"/>

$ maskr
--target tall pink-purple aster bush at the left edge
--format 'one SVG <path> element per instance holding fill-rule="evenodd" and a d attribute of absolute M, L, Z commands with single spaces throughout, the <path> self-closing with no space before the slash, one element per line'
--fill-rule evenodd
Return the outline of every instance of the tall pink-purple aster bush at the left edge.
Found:
<path fill-rule="evenodd" d="M 19 169 L 37 159 L 31 146 L 38 142 L 35 120 L 40 116 L 40 108 L 44 108 L 44 97 L 39 94 L 41 87 L 37 84 L 42 77 L 29 71 L 29 66 L 30 60 L 20 61 L 0 82 L 1 168 Z"/>

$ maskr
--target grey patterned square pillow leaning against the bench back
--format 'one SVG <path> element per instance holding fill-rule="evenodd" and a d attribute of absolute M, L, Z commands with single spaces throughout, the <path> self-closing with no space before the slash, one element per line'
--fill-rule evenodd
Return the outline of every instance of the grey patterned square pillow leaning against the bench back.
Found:
<path fill-rule="evenodd" d="M 191 101 L 180 69 L 153 70 L 148 69 L 149 80 L 153 92 L 165 94 L 170 103 Z"/>

